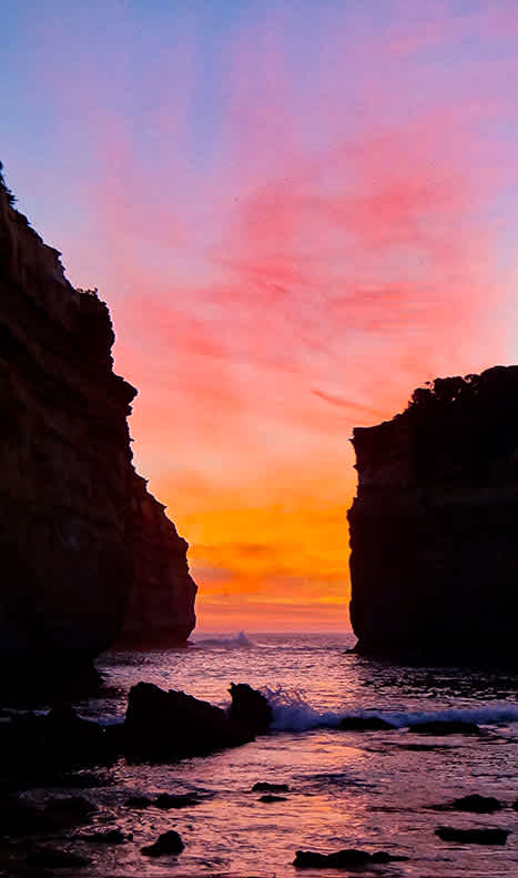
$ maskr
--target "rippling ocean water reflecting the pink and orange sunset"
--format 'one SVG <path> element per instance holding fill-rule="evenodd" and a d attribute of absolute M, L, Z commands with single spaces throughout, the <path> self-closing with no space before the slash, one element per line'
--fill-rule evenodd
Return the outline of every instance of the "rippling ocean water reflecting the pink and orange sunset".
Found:
<path fill-rule="evenodd" d="M 99 828 L 116 826 L 133 840 L 93 846 L 75 839 L 71 849 L 93 857 L 89 875 L 294 878 L 297 849 L 356 847 L 408 857 L 364 869 L 364 876 L 518 876 L 518 811 L 511 807 L 518 799 L 516 676 L 373 662 L 347 652 L 354 642 L 348 635 L 196 635 L 193 640 L 186 649 L 105 654 L 98 666 L 106 692 L 80 703 L 80 713 L 118 721 L 130 686 L 139 680 L 221 706 L 228 704 L 231 682 L 250 683 L 268 694 L 274 731 L 173 765 L 121 760 L 110 769 L 110 783 L 87 795 L 100 806 Z M 398 728 L 336 728 L 341 717 L 364 713 Z M 407 728 L 409 721 L 435 717 L 473 719 L 484 734 L 434 737 Z M 252 791 L 256 781 L 287 784 L 290 791 L 282 794 L 284 801 L 262 803 Z M 169 811 L 124 805 L 129 796 L 158 793 L 197 793 L 202 801 Z M 496 796 L 505 807 L 492 815 L 437 809 L 471 793 Z M 459 845 L 435 836 L 439 825 L 497 826 L 511 835 L 501 847 Z M 181 834 L 184 851 L 143 857 L 141 847 L 167 829 Z M 309 878 L 338 874 L 306 872 Z"/>

